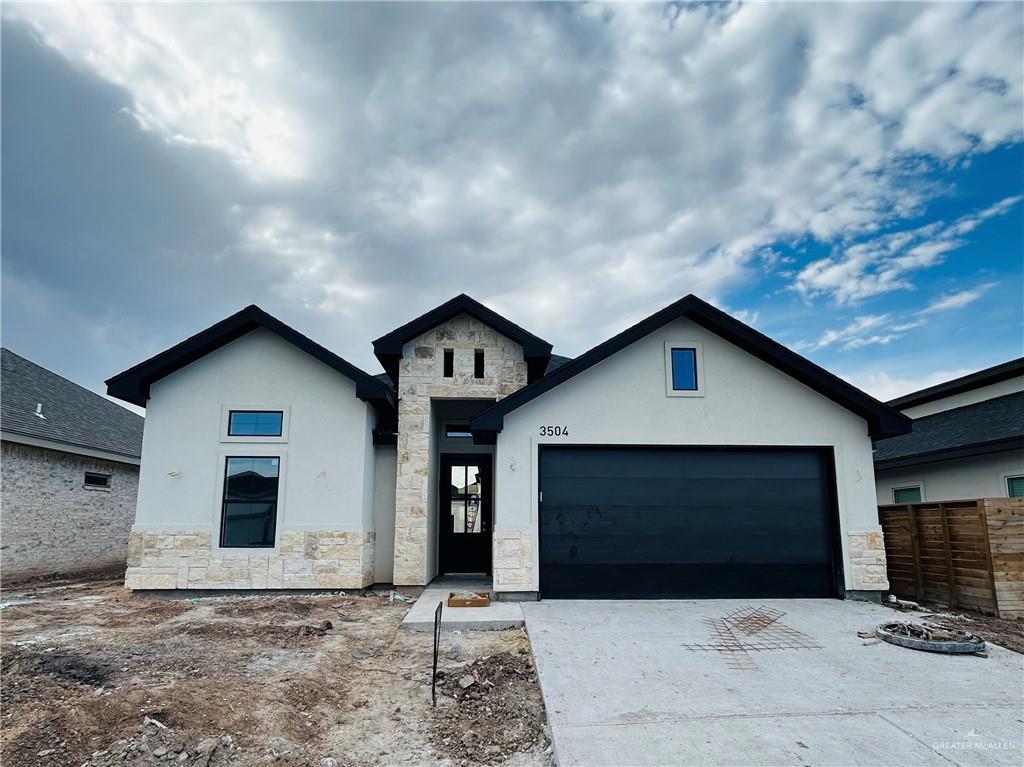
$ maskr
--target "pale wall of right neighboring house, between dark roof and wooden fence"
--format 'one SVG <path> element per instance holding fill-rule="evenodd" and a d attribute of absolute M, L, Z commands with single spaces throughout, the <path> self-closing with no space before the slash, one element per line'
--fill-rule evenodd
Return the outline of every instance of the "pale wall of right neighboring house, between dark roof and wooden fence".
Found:
<path fill-rule="evenodd" d="M 880 470 L 874 484 L 879 505 L 883 506 L 893 503 L 894 488 L 913 485 L 921 486 L 922 501 L 1006 498 L 1009 476 L 1024 476 L 1024 451 Z"/>

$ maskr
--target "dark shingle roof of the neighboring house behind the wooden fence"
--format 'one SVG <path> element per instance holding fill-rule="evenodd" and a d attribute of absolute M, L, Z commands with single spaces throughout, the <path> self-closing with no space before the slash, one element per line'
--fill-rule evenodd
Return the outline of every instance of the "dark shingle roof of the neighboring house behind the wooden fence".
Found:
<path fill-rule="evenodd" d="M 877 469 L 1024 450 L 1024 391 L 916 418 L 913 432 L 874 449 Z"/>

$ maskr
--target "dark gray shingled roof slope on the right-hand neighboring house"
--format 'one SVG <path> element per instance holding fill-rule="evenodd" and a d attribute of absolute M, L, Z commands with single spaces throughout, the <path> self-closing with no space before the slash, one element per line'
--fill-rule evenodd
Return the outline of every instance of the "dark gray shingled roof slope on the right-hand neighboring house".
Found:
<path fill-rule="evenodd" d="M 1024 392 L 916 418 L 913 431 L 880 441 L 874 462 L 1024 437 Z"/>

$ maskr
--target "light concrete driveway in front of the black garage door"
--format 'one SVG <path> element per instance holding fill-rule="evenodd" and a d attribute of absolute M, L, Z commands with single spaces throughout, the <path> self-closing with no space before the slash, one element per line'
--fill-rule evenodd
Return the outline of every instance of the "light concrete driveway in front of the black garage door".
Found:
<path fill-rule="evenodd" d="M 560 767 L 1022 764 L 1022 658 L 865 645 L 839 600 L 524 604 Z"/>

